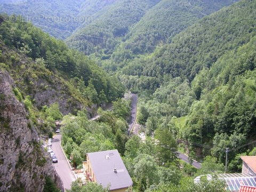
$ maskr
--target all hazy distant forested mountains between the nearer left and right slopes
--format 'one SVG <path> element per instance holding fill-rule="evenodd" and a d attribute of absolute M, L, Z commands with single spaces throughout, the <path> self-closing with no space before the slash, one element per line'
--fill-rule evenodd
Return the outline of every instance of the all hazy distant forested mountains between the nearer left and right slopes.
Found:
<path fill-rule="evenodd" d="M 117 49 L 111 61 L 116 63 L 154 51 L 199 18 L 236 1 L 31 0 L 2 2 L 0 12 L 23 15 L 85 54 L 100 53 L 97 57 L 105 60 Z"/>

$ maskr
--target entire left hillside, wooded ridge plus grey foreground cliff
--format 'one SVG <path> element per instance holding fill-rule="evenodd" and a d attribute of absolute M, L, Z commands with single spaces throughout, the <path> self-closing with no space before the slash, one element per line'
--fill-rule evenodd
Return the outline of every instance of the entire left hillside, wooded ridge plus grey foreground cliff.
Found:
<path fill-rule="evenodd" d="M 31 23 L 0 15 L 0 190 L 63 189 L 41 135 L 62 115 L 122 97 L 123 86 L 83 54 Z M 89 112 L 88 112 L 88 111 Z"/>

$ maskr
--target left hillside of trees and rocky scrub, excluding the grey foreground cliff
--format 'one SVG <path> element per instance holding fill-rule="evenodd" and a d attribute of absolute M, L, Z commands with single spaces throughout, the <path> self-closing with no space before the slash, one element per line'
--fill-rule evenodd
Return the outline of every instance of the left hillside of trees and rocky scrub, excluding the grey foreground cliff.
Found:
<path fill-rule="evenodd" d="M 19 19 L 13 22 L 4 17 L 2 21 L 0 37 L 4 44 L 1 44 L 3 56 L 0 61 L 9 66 L 12 74 L 16 76 L 15 81 L 23 79 L 19 81 L 21 90 L 33 95 L 33 99 L 36 98 L 42 105 L 47 98 L 36 96 L 41 93 L 49 94 L 55 100 L 58 100 L 59 94 L 67 93 L 84 107 L 122 97 L 124 89 L 117 79 L 108 76 L 83 54 L 68 49 L 63 42 L 43 33 L 30 23 L 21 22 Z M 23 61 L 24 55 L 30 59 L 25 58 Z M 76 108 L 76 101 L 73 103 L 68 97 L 61 98 L 67 98 L 66 101 L 59 101 L 62 105 L 68 102 L 69 110 L 65 114 L 71 112 L 70 106 L 73 104 Z"/>

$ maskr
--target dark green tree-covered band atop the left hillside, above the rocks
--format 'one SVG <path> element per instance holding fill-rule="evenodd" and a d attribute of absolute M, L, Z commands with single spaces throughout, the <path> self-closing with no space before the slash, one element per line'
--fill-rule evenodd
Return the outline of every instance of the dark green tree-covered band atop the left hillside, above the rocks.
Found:
<path fill-rule="evenodd" d="M 32 63 L 34 61 L 38 63 L 37 68 L 42 67 L 43 71 L 47 71 L 49 74 L 40 74 L 40 76 L 49 78 L 48 81 L 51 82 L 51 74 L 59 75 L 59 79 L 69 82 L 79 90 L 80 94 L 74 95 L 77 97 L 83 95 L 83 98 L 87 99 L 89 103 L 110 102 L 122 96 L 124 89 L 117 79 L 114 76 L 108 76 L 105 71 L 83 54 L 68 49 L 62 41 L 43 33 L 30 23 L 20 21 L 20 18 L 12 22 L 10 19 L 2 17 L 2 21 L 0 26 L 2 42 L 9 49 L 17 49 L 16 52 L 25 54 Z M 11 54 L 9 51 L 4 52 L 4 49 L 2 52 Z M 10 56 L 12 57 L 7 58 L 14 58 L 14 61 L 19 60 L 15 58 L 15 53 Z M 33 75 L 34 70 L 27 70 L 26 66 L 22 67 L 21 71 L 25 73 L 23 75 L 25 83 L 33 83 L 30 78 L 34 76 L 37 78 L 38 75 Z M 13 67 L 10 70 L 13 70 Z M 38 72 L 41 71 L 42 69 L 38 70 Z M 13 70 L 14 72 L 15 70 Z M 70 93 L 73 94 L 73 91 Z"/>

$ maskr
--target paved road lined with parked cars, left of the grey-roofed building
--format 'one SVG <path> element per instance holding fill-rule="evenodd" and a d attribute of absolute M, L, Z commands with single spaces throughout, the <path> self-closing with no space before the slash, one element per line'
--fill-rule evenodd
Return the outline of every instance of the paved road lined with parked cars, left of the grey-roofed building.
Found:
<path fill-rule="evenodd" d="M 58 163 L 54 163 L 53 166 L 57 171 L 57 173 L 59 174 L 63 182 L 64 188 L 70 189 L 71 183 L 75 181 L 75 177 L 72 171 L 70 170 L 66 157 L 63 154 L 63 151 L 60 147 L 60 141 L 61 141 L 61 134 L 55 135 L 55 137 L 52 140 L 52 150 L 55 153 L 56 157 L 58 158 Z"/>

